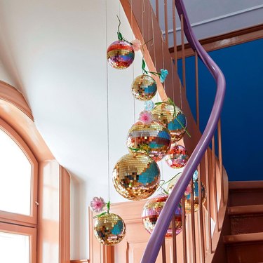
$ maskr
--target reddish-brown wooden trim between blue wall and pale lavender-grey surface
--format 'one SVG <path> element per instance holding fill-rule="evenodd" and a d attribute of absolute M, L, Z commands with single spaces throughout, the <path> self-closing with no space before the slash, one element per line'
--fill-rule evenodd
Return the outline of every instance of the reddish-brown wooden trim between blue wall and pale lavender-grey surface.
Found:
<path fill-rule="evenodd" d="M 253 27 L 246 27 L 238 29 L 227 34 L 220 34 L 218 36 L 201 39 L 200 43 L 205 48 L 205 51 L 213 51 L 220 48 L 227 48 L 228 46 L 238 45 L 248 41 L 263 38 L 263 24 L 255 25 Z M 174 52 L 174 48 L 169 48 L 170 53 Z M 189 43 L 184 44 L 184 54 L 186 57 L 194 55 L 194 50 L 191 49 Z M 177 58 L 182 58 L 182 46 L 177 46 Z"/>

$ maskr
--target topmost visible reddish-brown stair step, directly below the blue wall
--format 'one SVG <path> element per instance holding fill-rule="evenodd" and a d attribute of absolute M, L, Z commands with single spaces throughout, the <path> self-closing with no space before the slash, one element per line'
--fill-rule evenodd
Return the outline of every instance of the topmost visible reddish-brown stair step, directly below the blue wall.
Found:
<path fill-rule="evenodd" d="M 229 182 L 229 205 L 263 205 L 263 182 Z"/>

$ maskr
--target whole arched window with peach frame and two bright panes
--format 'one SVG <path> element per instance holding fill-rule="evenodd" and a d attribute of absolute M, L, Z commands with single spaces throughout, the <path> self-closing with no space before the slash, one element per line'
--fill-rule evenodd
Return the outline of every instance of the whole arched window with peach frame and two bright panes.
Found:
<path fill-rule="evenodd" d="M 0 262 L 36 262 L 37 161 L 0 120 Z"/>

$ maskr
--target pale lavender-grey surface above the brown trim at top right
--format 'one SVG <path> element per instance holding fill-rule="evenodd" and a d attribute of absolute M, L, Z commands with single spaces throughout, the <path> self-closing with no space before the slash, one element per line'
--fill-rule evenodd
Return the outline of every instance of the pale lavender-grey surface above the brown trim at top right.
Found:
<path fill-rule="evenodd" d="M 155 5 L 155 0 L 151 3 Z M 173 0 L 168 0 L 168 18 L 172 18 Z M 262 0 L 184 0 L 189 20 L 198 39 L 228 33 L 263 23 Z M 160 22 L 163 32 L 163 1 L 159 0 Z M 177 44 L 180 41 L 180 20 L 177 16 Z M 169 46 L 173 46 L 173 20 L 168 20 Z"/>

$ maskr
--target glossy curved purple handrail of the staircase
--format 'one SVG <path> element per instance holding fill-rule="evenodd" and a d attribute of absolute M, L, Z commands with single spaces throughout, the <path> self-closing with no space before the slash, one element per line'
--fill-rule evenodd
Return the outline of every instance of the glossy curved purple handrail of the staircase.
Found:
<path fill-rule="evenodd" d="M 184 15 L 184 34 L 187 37 L 191 48 L 197 51 L 199 57 L 213 75 L 217 83 L 217 92 L 215 95 L 213 108 L 208 119 L 208 123 L 205 126 L 203 135 L 201 136 L 201 139 L 199 140 L 198 144 L 196 145 L 196 148 L 191 154 L 187 166 L 184 168 L 182 176 L 178 180 L 177 184 L 175 184 L 175 187 L 170 193 L 166 204 L 163 206 L 163 210 L 161 211 L 159 219 L 156 222 L 154 231 L 151 234 L 151 237 L 149 238 L 149 242 L 147 243 L 147 247 L 144 251 L 141 263 L 156 262 L 156 258 L 159 254 L 159 250 L 161 248 L 161 245 L 166 235 L 166 231 L 173 218 L 177 205 L 179 204 L 184 194 L 184 191 L 187 188 L 187 185 L 189 184 L 191 177 L 194 174 L 194 171 L 196 170 L 198 164 L 201 162 L 201 159 L 205 154 L 205 151 L 208 148 L 208 145 L 215 133 L 215 129 L 217 128 L 217 123 L 222 111 L 224 93 L 226 88 L 224 75 L 222 74 L 220 68 L 215 64 L 212 58 L 210 58 L 208 53 L 205 52 L 205 50 L 199 43 L 198 39 L 196 39 L 196 36 L 194 35 L 194 32 L 191 29 L 191 25 L 183 1 L 175 0 L 175 6 L 177 8 L 179 16 Z"/>

